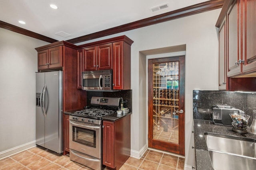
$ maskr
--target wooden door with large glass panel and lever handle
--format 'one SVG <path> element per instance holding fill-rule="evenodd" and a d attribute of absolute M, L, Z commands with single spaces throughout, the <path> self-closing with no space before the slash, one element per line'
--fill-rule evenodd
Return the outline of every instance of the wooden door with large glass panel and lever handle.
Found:
<path fill-rule="evenodd" d="M 185 154 L 185 57 L 148 60 L 148 146 Z"/>

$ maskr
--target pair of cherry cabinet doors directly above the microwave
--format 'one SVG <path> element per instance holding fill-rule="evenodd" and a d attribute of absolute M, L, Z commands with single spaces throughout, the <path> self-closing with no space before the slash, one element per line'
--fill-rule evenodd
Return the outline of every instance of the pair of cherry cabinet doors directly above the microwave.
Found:
<path fill-rule="evenodd" d="M 112 43 L 84 49 L 84 71 L 112 69 Z"/>

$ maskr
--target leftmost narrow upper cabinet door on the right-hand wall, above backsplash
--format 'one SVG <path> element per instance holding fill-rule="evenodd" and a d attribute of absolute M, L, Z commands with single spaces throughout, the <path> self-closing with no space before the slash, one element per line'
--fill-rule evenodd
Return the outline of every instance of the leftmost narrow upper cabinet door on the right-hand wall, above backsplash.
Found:
<path fill-rule="evenodd" d="M 226 79 L 226 20 L 224 20 L 219 29 L 219 90 L 228 90 Z"/>

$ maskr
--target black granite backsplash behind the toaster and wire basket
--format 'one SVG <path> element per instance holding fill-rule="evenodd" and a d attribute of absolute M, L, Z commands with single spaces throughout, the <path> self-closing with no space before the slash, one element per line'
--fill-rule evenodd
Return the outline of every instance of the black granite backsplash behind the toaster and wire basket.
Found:
<path fill-rule="evenodd" d="M 250 115 L 248 124 L 256 119 L 256 94 L 220 90 L 193 90 L 193 118 L 212 120 L 212 105 L 226 104 Z"/>

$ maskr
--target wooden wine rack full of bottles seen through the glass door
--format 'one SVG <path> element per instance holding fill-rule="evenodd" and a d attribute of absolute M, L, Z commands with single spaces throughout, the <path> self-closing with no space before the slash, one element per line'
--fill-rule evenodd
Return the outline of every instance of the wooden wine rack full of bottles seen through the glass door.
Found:
<path fill-rule="evenodd" d="M 170 122 L 178 119 L 178 69 L 178 62 L 158 63 L 153 66 L 153 119 L 156 127 L 167 124 L 174 128 L 175 123 Z"/>

